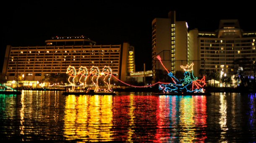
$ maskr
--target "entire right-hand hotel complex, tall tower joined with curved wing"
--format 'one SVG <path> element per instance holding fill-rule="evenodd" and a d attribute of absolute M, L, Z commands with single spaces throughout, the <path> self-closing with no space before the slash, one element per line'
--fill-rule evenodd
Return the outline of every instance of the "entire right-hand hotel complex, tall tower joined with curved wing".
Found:
<path fill-rule="evenodd" d="M 213 32 L 189 30 L 185 21 L 176 21 L 175 11 L 168 18 L 152 21 L 152 70 L 153 83 L 156 71 L 164 70 L 156 56 L 160 55 L 166 68 L 175 73 L 180 65 L 194 63 L 193 73 L 199 71 L 233 75 L 243 70 L 245 75 L 253 75 L 256 61 L 256 32 L 240 29 L 238 20 L 220 20 L 219 29 Z M 234 61 L 247 58 L 247 64 L 239 67 Z"/>

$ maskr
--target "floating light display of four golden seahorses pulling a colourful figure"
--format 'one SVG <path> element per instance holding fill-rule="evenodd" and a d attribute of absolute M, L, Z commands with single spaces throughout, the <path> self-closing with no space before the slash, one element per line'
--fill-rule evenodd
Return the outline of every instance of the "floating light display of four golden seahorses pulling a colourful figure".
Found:
<path fill-rule="evenodd" d="M 131 86 L 134 88 L 148 88 L 148 87 L 152 87 L 154 85 L 159 84 L 159 90 L 163 90 L 163 92 L 177 92 L 178 93 L 180 90 L 185 90 L 186 92 L 204 92 L 203 87 L 206 85 L 205 77 L 203 77 L 201 80 L 198 80 L 197 77 L 194 77 L 194 75 L 193 75 L 193 65 L 194 64 L 193 63 L 191 65 L 186 65 L 186 66 L 181 65 L 180 66 L 185 71 L 185 73 L 184 73 L 184 78 L 182 80 L 178 80 L 173 75 L 173 73 L 171 73 L 171 72 L 169 72 L 169 70 L 167 70 L 165 65 L 162 63 L 161 57 L 159 55 L 157 56 L 157 59 L 160 61 L 161 65 L 165 68 L 165 70 L 168 72 L 168 76 L 170 76 L 173 83 L 163 83 L 163 82 L 158 81 L 157 83 L 150 84 L 150 85 L 144 85 L 144 86 L 131 85 L 131 84 L 125 83 L 124 81 L 115 77 L 115 75 L 112 74 L 112 69 L 109 66 L 104 66 L 104 68 L 102 69 L 102 72 L 100 72 L 98 67 L 92 66 L 90 68 L 89 73 L 88 73 L 88 70 L 86 67 L 81 66 L 79 68 L 78 74 L 76 74 L 75 67 L 69 65 L 66 73 L 68 73 L 70 75 L 68 78 L 68 81 L 72 85 L 71 91 L 74 91 L 75 87 L 77 87 L 77 86 L 84 85 L 84 87 L 86 87 L 86 79 L 88 78 L 88 76 L 92 75 L 91 81 L 96 86 L 94 89 L 94 91 L 96 91 L 96 92 L 99 91 L 98 80 L 102 76 L 104 76 L 104 79 L 103 79 L 104 83 L 107 84 L 107 89 L 104 89 L 105 92 L 112 91 L 110 88 L 110 79 L 111 78 L 115 78 L 120 83 L 123 83 L 125 85 Z M 80 77 L 79 82 L 81 84 L 76 86 L 74 83 L 74 80 L 78 75 L 81 75 L 81 77 L 84 76 L 84 80 L 81 80 L 81 77 Z M 96 80 L 95 80 L 95 78 L 96 78 Z"/>

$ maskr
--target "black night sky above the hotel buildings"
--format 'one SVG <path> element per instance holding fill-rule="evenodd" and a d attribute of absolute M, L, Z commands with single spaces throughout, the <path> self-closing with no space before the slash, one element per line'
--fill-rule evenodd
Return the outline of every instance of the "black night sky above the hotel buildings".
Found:
<path fill-rule="evenodd" d="M 135 47 L 136 71 L 143 70 L 143 63 L 146 63 L 146 70 L 150 70 L 152 20 L 167 18 L 171 10 L 176 11 L 176 20 L 188 22 L 188 30 L 198 28 L 199 31 L 214 31 L 219 27 L 219 20 L 238 19 L 244 31 L 256 31 L 256 2 L 187 3 L 183 1 L 182 4 L 167 0 L 141 2 L 132 0 L 127 3 L 103 0 L 5 2 L 7 4 L 0 6 L 2 25 L 0 72 L 2 72 L 6 45 L 42 46 L 44 40 L 57 35 L 84 35 L 97 42 L 97 45 L 128 42 Z"/>

